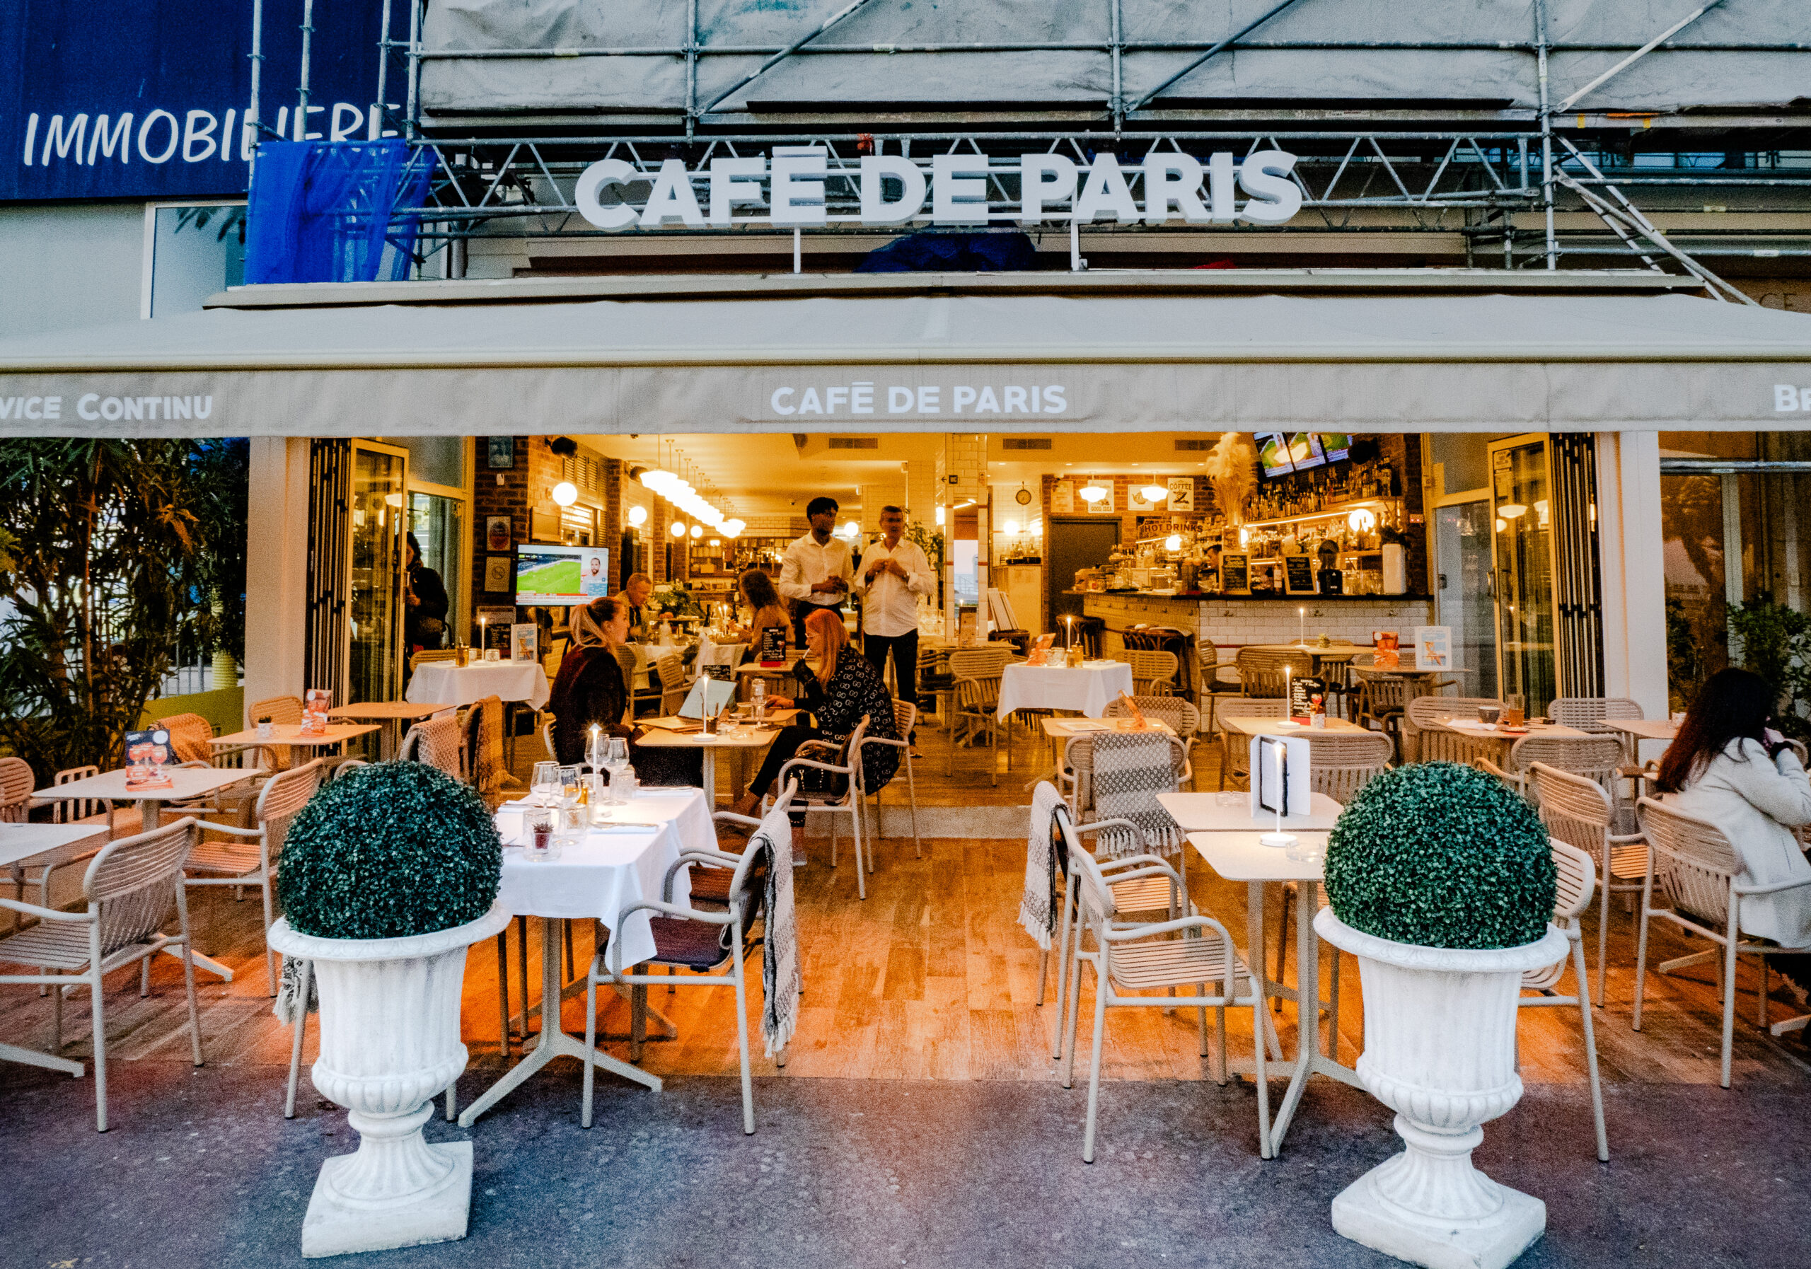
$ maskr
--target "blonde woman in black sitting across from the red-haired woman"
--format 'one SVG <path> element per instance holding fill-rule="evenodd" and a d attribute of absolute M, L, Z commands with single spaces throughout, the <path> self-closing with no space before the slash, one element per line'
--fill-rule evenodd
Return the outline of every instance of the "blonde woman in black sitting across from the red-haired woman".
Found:
<path fill-rule="evenodd" d="M 585 744 L 596 726 L 603 735 L 628 737 L 636 778 L 648 786 L 704 782 L 704 755 L 697 749 L 647 748 L 636 744 L 641 728 L 623 722 L 628 684 L 616 663 L 616 648 L 628 635 L 628 603 L 621 596 L 592 599 L 572 610 L 572 646 L 560 663 L 547 708 L 554 715 L 554 759 L 565 766 L 585 760 Z"/>

